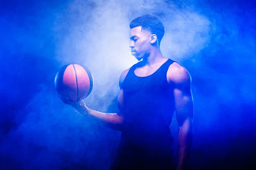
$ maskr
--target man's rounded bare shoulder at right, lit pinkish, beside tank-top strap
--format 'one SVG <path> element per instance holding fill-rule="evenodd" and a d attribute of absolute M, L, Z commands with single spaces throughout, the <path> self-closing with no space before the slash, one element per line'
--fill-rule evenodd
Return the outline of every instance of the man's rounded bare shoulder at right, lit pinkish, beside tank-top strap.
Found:
<path fill-rule="evenodd" d="M 191 76 L 189 71 L 177 62 L 173 62 L 167 71 L 167 79 L 170 82 L 182 83 L 182 82 L 190 82 Z"/>

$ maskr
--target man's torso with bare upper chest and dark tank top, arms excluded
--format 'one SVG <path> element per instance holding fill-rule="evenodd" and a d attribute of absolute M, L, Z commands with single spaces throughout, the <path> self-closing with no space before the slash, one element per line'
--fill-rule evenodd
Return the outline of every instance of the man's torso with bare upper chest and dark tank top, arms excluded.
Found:
<path fill-rule="evenodd" d="M 175 106 L 173 87 L 166 77 L 173 62 L 168 59 L 156 71 L 142 74 L 136 70 L 139 62 L 128 71 L 122 84 L 124 124 L 115 164 L 132 161 L 141 166 L 174 166 L 169 126 Z"/>

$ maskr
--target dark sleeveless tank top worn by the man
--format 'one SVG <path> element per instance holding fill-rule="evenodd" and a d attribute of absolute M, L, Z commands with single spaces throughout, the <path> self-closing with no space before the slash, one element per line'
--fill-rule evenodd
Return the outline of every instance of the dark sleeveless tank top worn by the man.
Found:
<path fill-rule="evenodd" d="M 173 85 L 166 78 L 173 62 L 168 59 L 147 77 L 134 74 L 142 62 L 133 65 L 128 71 L 122 85 L 124 124 L 121 141 L 136 143 L 163 139 L 173 142 L 169 128 L 175 111 Z"/>

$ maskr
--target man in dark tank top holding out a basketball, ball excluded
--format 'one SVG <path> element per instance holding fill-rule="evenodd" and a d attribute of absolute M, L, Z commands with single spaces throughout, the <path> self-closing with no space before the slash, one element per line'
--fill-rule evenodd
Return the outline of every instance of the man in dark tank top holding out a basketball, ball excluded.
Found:
<path fill-rule="evenodd" d="M 138 17 L 130 28 L 131 54 L 142 61 L 120 76 L 118 112 L 101 113 L 82 102 L 70 105 L 122 131 L 111 170 L 186 169 L 193 133 L 191 77 L 161 54 L 164 26 L 157 17 Z M 179 126 L 177 167 L 169 128 L 174 111 Z"/>

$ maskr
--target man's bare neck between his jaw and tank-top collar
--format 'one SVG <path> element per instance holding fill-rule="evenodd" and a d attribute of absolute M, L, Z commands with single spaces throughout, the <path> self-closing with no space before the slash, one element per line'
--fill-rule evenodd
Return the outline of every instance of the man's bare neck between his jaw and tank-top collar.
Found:
<path fill-rule="evenodd" d="M 144 65 L 147 65 L 148 67 L 154 66 L 157 63 L 161 62 L 163 59 L 165 59 L 165 57 L 163 57 L 161 51 L 159 48 L 153 48 L 150 51 L 150 54 L 148 55 L 148 57 L 145 57 L 143 59 L 143 63 Z"/>

